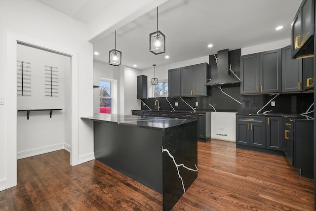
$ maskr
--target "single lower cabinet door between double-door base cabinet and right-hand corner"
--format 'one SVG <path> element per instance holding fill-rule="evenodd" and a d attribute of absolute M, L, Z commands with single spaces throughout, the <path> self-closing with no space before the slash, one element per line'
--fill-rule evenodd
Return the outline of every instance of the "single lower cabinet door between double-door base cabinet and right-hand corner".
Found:
<path fill-rule="evenodd" d="M 266 148 L 283 151 L 283 119 L 267 117 Z"/>

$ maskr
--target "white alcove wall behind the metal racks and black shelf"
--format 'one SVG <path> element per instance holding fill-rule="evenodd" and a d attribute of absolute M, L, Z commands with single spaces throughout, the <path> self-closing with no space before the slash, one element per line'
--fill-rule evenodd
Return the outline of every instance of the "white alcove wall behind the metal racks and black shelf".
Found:
<path fill-rule="evenodd" d="M 30 66 L 31 68 L 24 68 L 24 70 L 30 70 L 31 72 L 24 72 L 31 76 L 27 76 L 31 80 L 25 80 L 24 82 L 31 82 L 31 84 L 25 84 L 26 86 L 31 86 L 31 88 L 26 88 L 31 90 L 31 92 L 26 92 L 24 94 L 29 95 L 18 95 L 17 96 L 17 108 L 18 110 L 26 109 L 63 109 L 63 111 L 54 111 L 52 118 L 50 118 L 49 111 L 37 111 L 31 112 L 29 120 L 27 119 L 27 112 L 18 112 L 17 114 L 17 158 L 26 158 L 34 155 L 43 154 L 46 152 L 51 152 L 59 149 L 70 150 L 70 139 L 65 140 L 65 110 L 70 110 L 70 103 L 66 98 L 65 93 L 70 93 L 70 87 L 66 88 L 65 84 L 70 84 L 70 57 L 48 52 L 45 50 L 37 49 L 34 47 L 26 45 L 17 45 L 17 60 L 31 62 L 31 64 L 24 64 Z M 21 64 L 21 63 L 18 63 Z M 23 66 L 24 66 L 23 65 Z M 49 89 L 45 84 L 48 80 L 45 77 L 50 77 L 45 73 L 45 69 L 49 69 L 45 66 L 58 67 L 58 69 L 53 69 L 56 72 L 52 74 L 57 74 L 58 76 L 52 76 L 53 81 L 58 81 L 58 86 L 54 86 L 54 93 L 57 97 L 45 96 L 49 93 Z M 21 69 L 19 66 L 18 69 Z M 18 71 L 19 73 L 21 71 Z M 21 78 L 21 75 L 17 77 Z M 25 77 L 24 77 L 25 78 Z M 68 81 L 65 81 L 65 79 Z M 21 80 L 18 80 L 21 81 Z M 21 85 L 21 83 L 18 83 Z M 21 90 L 21 87 L 18 87 Z M 21 94 L 21 91 L 18 91 Z M 70 124 L 70 121 L 67 121 Z M 70 136 L 70 131 L 66 131 L 67 136 Z"/>

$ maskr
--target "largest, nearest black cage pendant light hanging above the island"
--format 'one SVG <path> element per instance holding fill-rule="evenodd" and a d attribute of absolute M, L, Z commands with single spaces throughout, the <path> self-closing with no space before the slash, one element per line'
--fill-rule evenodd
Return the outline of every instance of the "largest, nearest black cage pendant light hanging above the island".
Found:
<path fill-rule="evenodd" d="M 158 30 L 158 7 L 157 7 L 157 31 L 149 35 L 149 50 L 154 54 L 165 52 L 165 36 Z"/>

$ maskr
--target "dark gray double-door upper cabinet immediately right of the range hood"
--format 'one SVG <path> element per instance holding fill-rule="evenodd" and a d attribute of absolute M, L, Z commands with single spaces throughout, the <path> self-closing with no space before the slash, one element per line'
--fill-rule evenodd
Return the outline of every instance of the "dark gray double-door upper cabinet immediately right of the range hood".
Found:
<path fill-rule="evenodd" d="M 240 57 L 240 94 L 282 91 L 281 49 Z"/>

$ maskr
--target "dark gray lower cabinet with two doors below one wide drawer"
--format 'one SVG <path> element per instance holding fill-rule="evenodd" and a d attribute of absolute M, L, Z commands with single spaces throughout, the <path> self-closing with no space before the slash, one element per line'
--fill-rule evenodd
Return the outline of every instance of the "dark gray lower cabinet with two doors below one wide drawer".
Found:
<path fill-rule="evenodd" d="M 236 115 L 236 143 L 266 148 L 266 117 Z"/>

